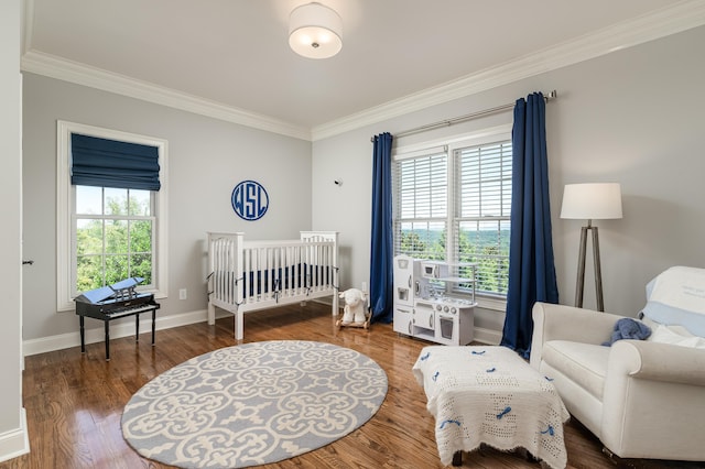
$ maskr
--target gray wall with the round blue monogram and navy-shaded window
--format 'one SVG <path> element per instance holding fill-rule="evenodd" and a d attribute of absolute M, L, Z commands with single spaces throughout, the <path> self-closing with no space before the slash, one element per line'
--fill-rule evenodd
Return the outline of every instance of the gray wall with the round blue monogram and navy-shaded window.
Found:
<path fill-rule="evenodd" d="M 161 319 L 206 308 L 206 231 L 289 239 L 311 228 L 311 142 L 24 74 L 24 253 L 35 261 L 24 276 L 24 340 L 78 329 L 73 312 L 56 312 L 57 120 L 169 141 L 169 297 L 160 299 Z M 260 220 L 245 221 L 230 206 L 243 179 L 269 193 Z M 187 299 L 178 299 L 180 288 Z M 89 319 L 86 327 L 102 324 Z"/>

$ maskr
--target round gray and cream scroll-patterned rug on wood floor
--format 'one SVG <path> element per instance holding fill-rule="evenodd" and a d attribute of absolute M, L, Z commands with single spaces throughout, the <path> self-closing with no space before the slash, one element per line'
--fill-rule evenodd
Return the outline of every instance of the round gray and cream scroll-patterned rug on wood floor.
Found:
<path fill-rule="evenodd" d="M 325 446 L 369 421 L 387 374 L 332 343 L 276 340 L 193 358 L 140 389 L 122 435 L 140 455 L 182 468 L 243 468 Z"/>

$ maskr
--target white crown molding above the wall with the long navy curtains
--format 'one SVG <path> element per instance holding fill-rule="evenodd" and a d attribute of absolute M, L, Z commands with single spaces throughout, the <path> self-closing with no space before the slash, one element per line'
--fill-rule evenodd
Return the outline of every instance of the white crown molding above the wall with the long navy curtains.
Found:
<path fill-rule="evenodd" d="M 316 126 L 313 141 L 420 111 L 705 24 L 705 1 L 687 0 L 518 59 Z"/>

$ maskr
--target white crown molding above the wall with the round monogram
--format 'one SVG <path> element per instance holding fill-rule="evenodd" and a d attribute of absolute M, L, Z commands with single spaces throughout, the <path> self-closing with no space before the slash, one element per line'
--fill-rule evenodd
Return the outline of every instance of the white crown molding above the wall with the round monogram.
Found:
<path fill-rule="evenodd" d="M 216 101 L 160 87 L 39 51 L 30 50 L 25 52 L 22 56 L 20 67 L 22 72 L 43 75 L 227 122 L 311 141 L 311 130 L 307 128 L 297 127 L 269 116 L 225 106 Z"/>

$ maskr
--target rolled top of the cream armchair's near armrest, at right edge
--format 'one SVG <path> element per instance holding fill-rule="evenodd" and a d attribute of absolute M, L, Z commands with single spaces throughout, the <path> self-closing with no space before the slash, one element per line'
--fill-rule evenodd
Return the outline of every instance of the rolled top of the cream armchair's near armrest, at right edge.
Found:
<path fill-rule="evenodd" d="M 651 381 L 705 386 L 705 350 L 671 343 L 618 340 L 609 352 L 608 381 L 623 374 Z"/>

